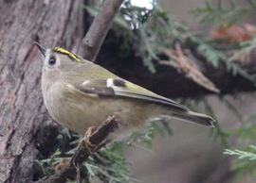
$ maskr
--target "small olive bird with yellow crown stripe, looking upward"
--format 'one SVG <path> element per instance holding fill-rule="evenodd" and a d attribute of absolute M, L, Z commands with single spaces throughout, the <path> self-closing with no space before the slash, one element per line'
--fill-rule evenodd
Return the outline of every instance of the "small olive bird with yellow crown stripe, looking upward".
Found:
<path fill-rule="evenodd" d="M 109 135 L 109 141 L 121 141 L 155 119 L 213 126 L 210 116 L 193 112 L 62 47 L 46 49 L 35 44 L 44 58 L 46 109 L 54 121 L 71 131 L 84 134 L 88 127 L 101 125 L 112 115 L 119 120 L 119 128 Z"/>

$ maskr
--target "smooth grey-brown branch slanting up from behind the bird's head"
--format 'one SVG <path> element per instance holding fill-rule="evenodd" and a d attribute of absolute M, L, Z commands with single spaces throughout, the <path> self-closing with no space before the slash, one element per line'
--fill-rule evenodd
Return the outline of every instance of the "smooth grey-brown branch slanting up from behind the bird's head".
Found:
<path fill-rule="evenodd" d="M 98 15 L 95 17 L 86 36 L 82 39 L 79 55 L 94 61 L 101 44 L 112 24 L 123 0 L 104 0 Z"/>

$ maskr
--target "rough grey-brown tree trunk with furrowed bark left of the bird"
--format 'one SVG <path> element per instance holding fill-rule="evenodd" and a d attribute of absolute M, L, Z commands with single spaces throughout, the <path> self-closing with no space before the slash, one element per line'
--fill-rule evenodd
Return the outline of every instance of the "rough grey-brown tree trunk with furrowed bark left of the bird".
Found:
<path fill-rule="evenodd" d="M 40 87 L 42 58 L 33 42 L 76 50 L 82 0 L 1 1 L 0 12 L 0 182 L 31 182 L 39 139 L 52 135 Z"/>

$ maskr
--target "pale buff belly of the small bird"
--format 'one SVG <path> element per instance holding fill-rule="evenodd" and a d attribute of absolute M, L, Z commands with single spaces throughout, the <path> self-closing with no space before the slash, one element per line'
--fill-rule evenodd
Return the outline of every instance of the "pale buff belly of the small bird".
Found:
<path fill-rule="evenodd" d="M 110 135 L 110 140 L 121 140 L 147 125 L 158 113 L 157 106 L 126 99 L 97 98 L 84 96 L 79 101 L 72 98 L 46 102 L 52 118 L 60 125 L 84 135 L 89 126 L 101 125 L 108 116 L 115 115 L 119 128 Z"/>

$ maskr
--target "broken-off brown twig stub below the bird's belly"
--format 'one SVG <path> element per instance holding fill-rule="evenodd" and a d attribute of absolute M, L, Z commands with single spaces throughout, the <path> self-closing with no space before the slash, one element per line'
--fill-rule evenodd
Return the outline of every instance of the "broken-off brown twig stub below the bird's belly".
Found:
<path fill-rule="evenodd" d="M 115 116 L 108 117 L 100 126 L 89 127 L 84 139 L 80 143 L 77 152 L 70 158 L 64 167 L 55 175 L 42 178 L 36 183 L 64 183 L 67 179 L 74 177 L 82 178 L 80 170 L 82 164 L 89 158 L 91 153 L 95 153 L 103 146 L 107 136 L 119 126 L 119 120 Z M 89 148 L 89 149 L 88 149 Z M 79 182 L 80 180 L 78 180 Z"/>

